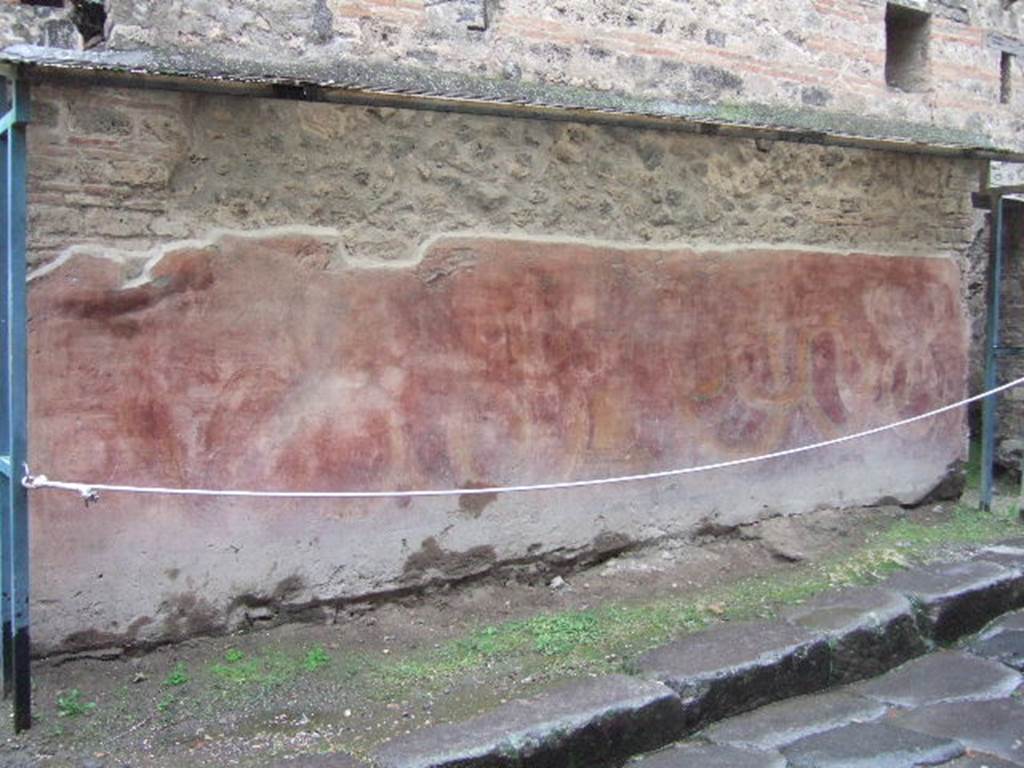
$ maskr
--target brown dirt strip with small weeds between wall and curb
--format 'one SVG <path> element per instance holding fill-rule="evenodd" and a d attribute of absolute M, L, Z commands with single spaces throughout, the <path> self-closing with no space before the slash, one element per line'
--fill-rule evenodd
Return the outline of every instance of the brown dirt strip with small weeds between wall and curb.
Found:
<path fill-rule="evenodd" d="M 633 615 L 630 606 L 718 594 L 855 552 L 893 524 L 938 525 L 953 514 L 948 503 L 823 510 L 665 542 L 574 572 L 531 566 L 330 625 L 253 628 L 139 655 L 41 659 L 35 727 L 14 736 L 5 726 L 0 765 L 262 766 L 328 751 L 365 755 L 396 733 L 616 669 L 632 641 L 610 653 L 595 646 L 600 657 L 557 644 L 586 645 L 592 627 L 583 620 L 596 608 Z M 1014 535 L 1019 527 L 1008 528 Z M 644 621 L 654 615 L 644 610 Z M 714 603 L 708 610 L 717 612 Z M 517 622 L 546 627 L 538 616 L 551 616 L 550 638 L 535 632 L 536 647 L 501 652 L 518 637 Z"/>

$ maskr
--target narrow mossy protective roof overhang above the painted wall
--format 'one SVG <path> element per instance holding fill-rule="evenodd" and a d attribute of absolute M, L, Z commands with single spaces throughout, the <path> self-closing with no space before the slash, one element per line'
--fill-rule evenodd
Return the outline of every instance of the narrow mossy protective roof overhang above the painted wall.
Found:
<path fill-rule="evenodd" d="M 183 50 L 87 51 L 13 45 L 0 62 L 33 80 L 459 112 L 1024 162 L 1024 151 L 971 131 L 768 104 L 682 102 L 390 63 L 212 58 Z"/>

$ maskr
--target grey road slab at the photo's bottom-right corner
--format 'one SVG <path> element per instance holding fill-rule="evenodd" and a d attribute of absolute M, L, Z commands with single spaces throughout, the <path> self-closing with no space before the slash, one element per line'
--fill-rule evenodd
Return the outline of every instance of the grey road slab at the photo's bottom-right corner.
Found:
<path fill-rule="evenodd" d="M 901 728 L 955 738 L 969 750 L 1024 766 L 1024 702 L 998 698 L 933 705 L 897 715 Z"/>

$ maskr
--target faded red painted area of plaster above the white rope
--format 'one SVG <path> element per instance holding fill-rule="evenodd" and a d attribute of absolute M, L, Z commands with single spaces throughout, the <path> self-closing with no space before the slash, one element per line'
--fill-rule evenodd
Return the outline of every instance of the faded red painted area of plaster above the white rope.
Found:
<path fill-rule="evenodd" d="M 137 288 L 90 258 L 34 284 L 35 461 L 97 481 L 471 487 L 775 451 L 964 391 L 948 260 L 452 239 L 415 267 L 326 271 L 333 249 L 228 237 Z M 945 456 L 958 418 L 885 439 Z"/>

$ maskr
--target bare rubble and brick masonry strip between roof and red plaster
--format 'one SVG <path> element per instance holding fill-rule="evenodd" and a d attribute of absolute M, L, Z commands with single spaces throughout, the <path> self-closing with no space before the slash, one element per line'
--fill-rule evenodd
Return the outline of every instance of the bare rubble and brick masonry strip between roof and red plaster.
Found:
<path fill-rule="evenodd" d="M 33 263 L 214 226 L 334 226 L 367 263 L 467 229 L 908 255 L 974 234 L 964 160 L 159 91 L 34 99 Z"/>

